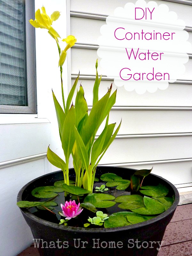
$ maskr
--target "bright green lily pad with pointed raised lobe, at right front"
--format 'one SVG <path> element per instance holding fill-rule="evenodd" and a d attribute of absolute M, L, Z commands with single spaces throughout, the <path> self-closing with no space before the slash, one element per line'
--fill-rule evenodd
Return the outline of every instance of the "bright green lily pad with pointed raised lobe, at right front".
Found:
<path fill-rule="evenodd" d="M 131 209 L 131 211 L 139 214 L 144 214 L 144 215 L 160 214 L 165 211 L 164 205 L 158 202 L 156 199 L 150 198 L 148 196 L 144 196 L 143 201 L 144 201 L 145 207 Z"/>

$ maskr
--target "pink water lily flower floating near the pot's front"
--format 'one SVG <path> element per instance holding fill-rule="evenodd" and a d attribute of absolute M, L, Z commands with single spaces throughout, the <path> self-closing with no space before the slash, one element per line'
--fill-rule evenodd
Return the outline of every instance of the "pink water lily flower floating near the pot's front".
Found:
<path fill-rule="evenodd" d="M 62 209 L 62 216 L 66 217 L 67 220 L 70 220 L 71 218 L 75 218 L 77 215 L 79 215 L 83 209 L 81 209 L 80 203 L 76 204 L 75 200 L 73 201 L 66 201 L 65 205 L 61 204 Z"/>

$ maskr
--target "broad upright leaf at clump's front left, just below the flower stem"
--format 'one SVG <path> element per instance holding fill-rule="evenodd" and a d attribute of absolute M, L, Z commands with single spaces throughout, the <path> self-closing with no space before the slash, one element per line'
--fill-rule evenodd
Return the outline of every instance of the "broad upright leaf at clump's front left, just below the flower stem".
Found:
<path fill-rule="evenodd" d="M 75 143 L 74 125 L 75 125 L 75 111 L 74 111 L 74 106 L 71 106 L 65 118 L 63 131 L 62 131 L 62 138 L 61 138 L 65 160 L 69 159 L 69 156 L 73 149 L 73 145 Z"/>

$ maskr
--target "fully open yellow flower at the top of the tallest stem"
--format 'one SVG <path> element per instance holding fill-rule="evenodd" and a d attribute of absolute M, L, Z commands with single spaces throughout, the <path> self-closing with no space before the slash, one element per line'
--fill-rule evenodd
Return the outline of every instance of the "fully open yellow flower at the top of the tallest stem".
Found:
<path fill-rule="evenodd" d="M 57 20 L 60 16 L 59 11 L 55 11 L 52 13 L 51 18 L 47 15 L 45 11 L 45 7 L 41 7 L 42 13 L 40 9 L 38 9 L 35 13 L 35 20 L 29 20 L 30 24 L 35 28 L 46 28 L 48 29 L 48 33 L 58 42 L 58 37 L 60 35 L 52 28 L 53 21 Z"/>

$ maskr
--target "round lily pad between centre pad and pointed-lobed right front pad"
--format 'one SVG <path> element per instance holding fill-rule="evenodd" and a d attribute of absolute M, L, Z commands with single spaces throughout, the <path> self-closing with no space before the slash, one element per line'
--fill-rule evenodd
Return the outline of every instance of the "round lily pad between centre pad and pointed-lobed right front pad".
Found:
<path fill-rule="evenodd" d="M 121 203 L 118 207 L 124 210 L 136 209 L 145 206 L 143 197 L 140 195 L 117 196 L 115 202 Z"/>

